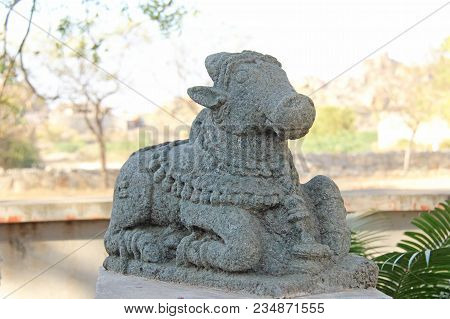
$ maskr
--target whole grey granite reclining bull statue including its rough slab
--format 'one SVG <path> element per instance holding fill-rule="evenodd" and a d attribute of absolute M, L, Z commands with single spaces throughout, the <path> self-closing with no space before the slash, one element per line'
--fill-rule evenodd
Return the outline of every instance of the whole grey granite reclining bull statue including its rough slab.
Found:
<path fill-rule="evenodd" d="M 377 268 L 349 255 L 339 189 L 299 183 L 287 140 L 315 109 L 281 64 L 252 51 L 206 58 L 213 87 L 188 140 L 140 149 L 116 181 L 106 269 L 268 296 L 375 286 Z"/>

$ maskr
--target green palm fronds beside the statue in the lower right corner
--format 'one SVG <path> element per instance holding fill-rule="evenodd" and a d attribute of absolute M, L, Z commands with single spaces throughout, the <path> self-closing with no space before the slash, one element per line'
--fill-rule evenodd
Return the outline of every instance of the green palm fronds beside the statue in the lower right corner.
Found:
<path fill-rule="evenodd" d="M 450 298 L 450 201 L 412 220 L 417 232 L 376 257 L 377 288 L 393 298 Z"/>

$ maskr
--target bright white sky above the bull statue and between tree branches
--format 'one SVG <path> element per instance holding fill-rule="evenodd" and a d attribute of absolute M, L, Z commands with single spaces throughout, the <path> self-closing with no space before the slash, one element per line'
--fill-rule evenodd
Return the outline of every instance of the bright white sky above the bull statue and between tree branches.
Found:
<path fill-rule="evenodd" d="M 36 15 L 35 22 L 45 29 L 61 17 L 52 7 L 54 3 L 41 4 Z M 67 3 L 72 8 L 70 12 L 78 14 L 79 1 Z M 293 83 L 302 82 L 306 76 L 331 79 L 445 1 L 200 0 L 179 3 L 198 10 L 195 16 L 186 17 L 181 35 L 164 39 L 155 35 L 157 30 L 150 23 L 151 42 L 135 43 L 124 54 L 123 80 L 157 104 L 184 94 L 188 86 L 210 83 L 203 61 L 208 54 L 220 51 L 251 49 L 271 54 L 283 64 Z M 17 9 L 27 12 L 26 5 Z M 2 14 L 4 11 L 2 8 Z M 114 17 L 109 18 L 113 23 Z M 19 34 L 24 21 L 19 17 L 13 19 Z M 54 27 L 55 24 L 51 28 Z M 405 63 L 423 63 L 431 59 L 433 50 L 447 36 L 450 36 L 450 5 L 377 55 L 387 52 Z M 43 34 L 35 29 L 31 37 L 36 42 L 42 41 Z M 174 61 L 186 65 L 183 71 L 186 79 L 179 78 Z M 104 67 L 114 63 L 106 61 Z M 353 72 L 357 71 L 358 67 Z M 34 77 L 46 80 L 36 74 Z M 127 88 L 111 98 L 110 103 L 127 113 L 148 112 L 154 108 Z"/>

